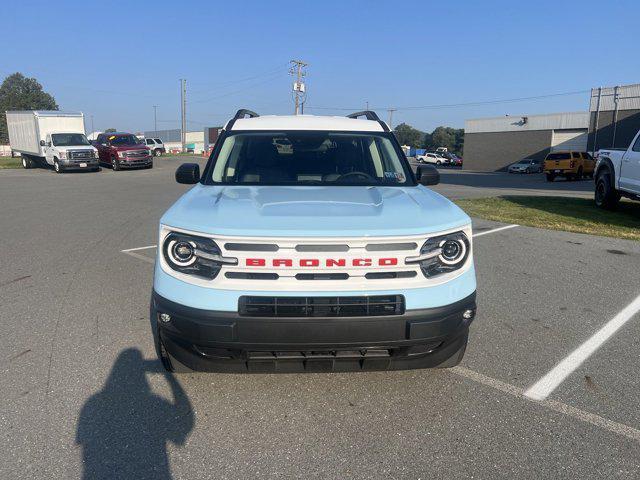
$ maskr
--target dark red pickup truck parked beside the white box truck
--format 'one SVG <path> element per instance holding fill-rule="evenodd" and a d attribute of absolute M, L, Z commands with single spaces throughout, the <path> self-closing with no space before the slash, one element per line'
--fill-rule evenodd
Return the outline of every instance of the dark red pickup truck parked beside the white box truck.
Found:
<path fill-rule="evenodd" d="M 100 163 L 113 170 L 121 168 L 153 168 L 151 151 L 131 133 L 101 133 L 94 142 Z"/>

